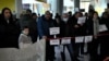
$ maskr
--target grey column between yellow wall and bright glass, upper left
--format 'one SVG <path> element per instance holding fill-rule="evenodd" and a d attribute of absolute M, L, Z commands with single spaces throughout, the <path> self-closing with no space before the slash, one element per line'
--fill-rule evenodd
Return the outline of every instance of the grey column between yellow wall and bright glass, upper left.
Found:
<path fill-rule="evenodd" d="M 20 19 L 20 14 L 22 13 L 22 10 L 23 10 L 22 0 L 15 0 L 15 12 L 17 19 Z"/>

